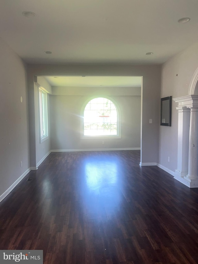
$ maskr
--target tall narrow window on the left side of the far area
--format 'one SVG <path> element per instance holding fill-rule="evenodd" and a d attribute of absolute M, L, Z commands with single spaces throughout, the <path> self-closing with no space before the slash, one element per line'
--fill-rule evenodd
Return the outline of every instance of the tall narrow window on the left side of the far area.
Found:
<path fill-rule="evenodd" d="M 47 120 L 47 93 L 39 88 L 39 106 L 40 106 L 40 139 L 43 141 L 48 137 Z"/>

